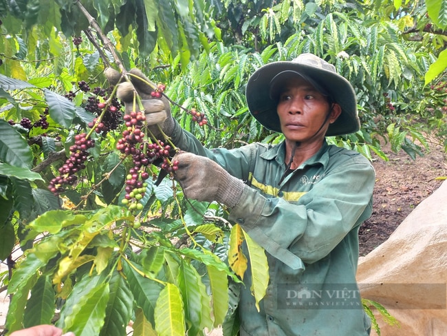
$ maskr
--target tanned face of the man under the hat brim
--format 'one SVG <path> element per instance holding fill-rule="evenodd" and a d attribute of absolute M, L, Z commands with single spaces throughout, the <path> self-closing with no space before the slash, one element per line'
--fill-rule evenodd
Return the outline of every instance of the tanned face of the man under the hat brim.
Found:
<path fill-rule="evenodd" d="M 329 123 L 334 123 L 341 109 L 338 104 L 331 109 L 326 96 L 296 76 L 284 83 L 276 111 L 285 138 L 303 145 L 322 140 Z M 327 114 L 330 115 L 325 121 Z"/>

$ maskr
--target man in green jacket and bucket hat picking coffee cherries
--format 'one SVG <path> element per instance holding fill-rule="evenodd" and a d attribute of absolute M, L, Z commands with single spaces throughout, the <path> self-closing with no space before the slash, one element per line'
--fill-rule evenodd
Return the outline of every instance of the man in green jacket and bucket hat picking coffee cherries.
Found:
<path fill-rule="evenodd" d="M 375 176 L 362 155 L 325 141 L 360 128 L 356 95 L 335 67 L 301 54 L 254 72 L 246 87 L 250 112 L 285 140 L 230 150 L 203 147 L 179 127 L 168 104 L 146 100 L 149 87 L 134 84 L 148 125 L 160 125 L 188 151 L 174 158 L 185 196 L 224 204 L 230 220 L 266 251 L 267 293 L 257 311 L 250 276 L 244 277 L 240 334 L 369 335 L 355 275 L 358 229 L 371 216 Z M 125 85 L 118 90 L 128 93 Z"/>

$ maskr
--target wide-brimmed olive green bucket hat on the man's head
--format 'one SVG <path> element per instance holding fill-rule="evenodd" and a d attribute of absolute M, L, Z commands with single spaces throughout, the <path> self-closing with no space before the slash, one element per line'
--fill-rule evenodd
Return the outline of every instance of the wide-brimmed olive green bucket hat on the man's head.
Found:
<path fill-rule="evenodd" d="M 331 101 L 342 108 L 337 120 L 329 125 L 326 136 L 354 133 L 360 129 L 356 93 L 351 83 L 337 74 L 334 65 L 314 54 L 301 54 L 293 61 L 263 65 L 250 76 L 246 87 L 248 109 L 261 125 L 281 132 L 279 116 L 276 113 L 277 91 L 281 78 L 287 78 L 291 73 L 305 78 L 316 90 L 329 96 Z"/>

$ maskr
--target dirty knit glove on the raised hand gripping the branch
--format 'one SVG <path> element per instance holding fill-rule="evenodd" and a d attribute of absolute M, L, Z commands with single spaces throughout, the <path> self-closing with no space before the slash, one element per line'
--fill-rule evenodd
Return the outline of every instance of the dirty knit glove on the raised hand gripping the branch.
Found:
<path fill-rule="evenodd" d="M 121 74 L 111 67 L 105 70 L 105 76 L 110 85 L 117 85 L 121 80 Z M 116 95 L 124 102 L 126 114 L 140 110 L 134 99 L 135 93 L 138 93 L 144 106 L 146 125 L 148 125 L 149 130 L 155 138 L 161 138 L 161 133 L 157 125 L 160 125 L 166 136 L 171 136 L 175 123 L 171 116 L 171 106 L 166 97 L 155 98 L 151 96 L 151 92 L 155 91 L 153 87 L 156 87 L 156 85 L 149 81 L 140 70 L 132 69 L 129 71 L 129 78 L 131 79 L 131 83 L 126 81 L 119 83 L 116 90 Z M 153 87 L 148 83 L 151 83 Z"/>

